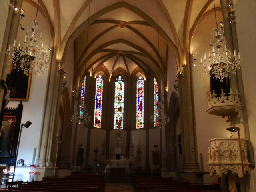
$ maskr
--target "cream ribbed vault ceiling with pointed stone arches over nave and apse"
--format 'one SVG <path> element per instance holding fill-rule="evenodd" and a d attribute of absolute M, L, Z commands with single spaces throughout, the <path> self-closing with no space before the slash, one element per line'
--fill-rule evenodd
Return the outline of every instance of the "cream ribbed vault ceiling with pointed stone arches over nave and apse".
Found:
<path fill-rule="evenodd" d="M 37 5 L 37 0 L 24 1 Z M 215 6 L 220 8 L 218 0 Z M 117 68 L 132 74 L 139 67 L 165 82 L 168 51 L 180 72 L 191 33 L 213 9 L 213 0 L 40 0 L 54 42 L 61 42 L 62 65 L 75 44 L 77 78 L 102 66 L 110 78 Z"/>

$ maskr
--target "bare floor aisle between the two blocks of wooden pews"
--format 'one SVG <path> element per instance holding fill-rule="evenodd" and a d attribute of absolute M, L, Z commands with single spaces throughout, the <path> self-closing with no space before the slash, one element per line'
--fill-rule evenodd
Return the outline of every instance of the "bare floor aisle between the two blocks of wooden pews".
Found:
<path fill-rule="evenodd" d="M 131 183 L 105 183 L 105 192 L 135 192 Z"/>

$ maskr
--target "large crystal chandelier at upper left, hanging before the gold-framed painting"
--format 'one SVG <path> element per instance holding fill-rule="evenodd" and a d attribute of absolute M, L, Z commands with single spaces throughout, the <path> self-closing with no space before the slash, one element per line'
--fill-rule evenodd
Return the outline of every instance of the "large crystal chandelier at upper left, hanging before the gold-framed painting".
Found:
<path fill-rule="evenodd" d="M 38 0 L 39 5 L 39 0 Z M 38 12 L 38 6 L 36 11 L 36 16 Z M 50 51 L 45 50 L 42 32 L 40 38 L 37 37 L 37 32 L 40 30 L 40 23 L 36 22 L 36 18 L 31 23 L 28 23 L 28 30 L 26 32 L 25 38 L 22 42 L 9 45 L 6 51 L 7 57 L 10 62 L 13 62 L 13 68 L 22 70 L 25 75 L 33 72 L 35 75 L 37 73 L 44 74 L 47 71 L 50 62 Z"/>

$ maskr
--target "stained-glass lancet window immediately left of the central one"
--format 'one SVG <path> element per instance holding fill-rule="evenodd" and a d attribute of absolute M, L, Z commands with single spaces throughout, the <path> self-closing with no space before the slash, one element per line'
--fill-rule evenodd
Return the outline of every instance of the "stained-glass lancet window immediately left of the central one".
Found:
<path fill-rule="evenodd" d="M 103 92 L 103 77 L 98 75 L 96 78 L 95 91 L 95 107 L 94 107 L 94 127 L 101 127 L 102 114 L 102 92 Z"/>

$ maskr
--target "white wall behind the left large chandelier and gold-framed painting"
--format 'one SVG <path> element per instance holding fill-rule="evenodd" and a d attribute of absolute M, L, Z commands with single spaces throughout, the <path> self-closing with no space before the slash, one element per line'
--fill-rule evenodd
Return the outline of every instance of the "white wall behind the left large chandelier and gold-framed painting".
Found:
<path fill-rule="evenodd" d="M 25 33 L 28 28 L 27 23 L 34 20 L 36 16 L 36 8 L 30 4 L 23 2 L 22 8 L 26 10 L 24 13 L 25 17 L 22 19 L 22 25 L 25 30 L 21 30 L 20 28 L 18 29 L 16 42 L 24 40 Z M 42 31 L 42 38 L 44 40 L 45 47 L 47 49 L 51 48 L 50 30 L 46 20 L 40 12 L 38 12 L 37 22 L 41 23 L 41 30 L 39 30 L 39 33 Z M 22 128 L 18 159 L 22 158 L 27 162 L 32 162 L 34 148 L 38 149 L 46 95 L 47 76 L 48 72 L 44 72 L 44 75 L 32 75 L 29 100 L 22 102 L 23 113 L 21 123 L 30 121 L 32 124 L 29 128 Z M 10 101 L 8 107 L 17 107 L 18 104 L 19 101 Z"/>

